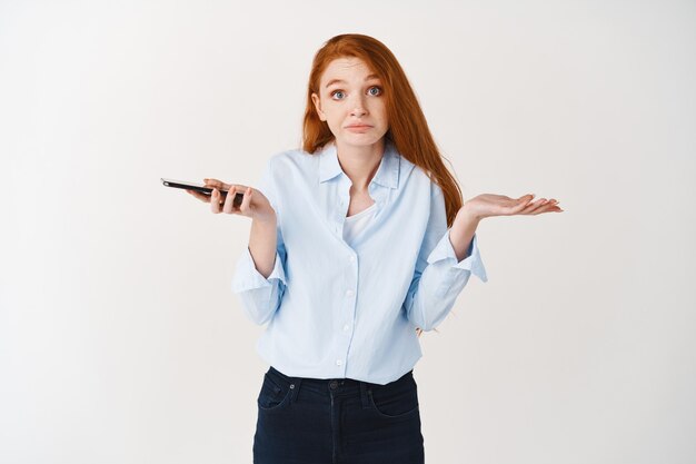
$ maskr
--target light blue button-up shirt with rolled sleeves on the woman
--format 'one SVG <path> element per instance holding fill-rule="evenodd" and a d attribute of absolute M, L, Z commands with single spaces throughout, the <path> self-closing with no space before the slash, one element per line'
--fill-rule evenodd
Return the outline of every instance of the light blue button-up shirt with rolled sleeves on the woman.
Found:
<path fill-rule="evenodd" d="M 384 385 L 422 355 L 416 327 L 440 324 L 471 274 L 488 278 L 476 235 L 457 261 L 443 190 L 391 142 L 368 187 L 374 217 L 348 245 L 350 186 L 334 144 L 272 156 L 257 188 L 276 210 L 275 267 L 265 278 L 247 248 L 232 292 L 268 323 L 257 351 L 278 371 Z"/>

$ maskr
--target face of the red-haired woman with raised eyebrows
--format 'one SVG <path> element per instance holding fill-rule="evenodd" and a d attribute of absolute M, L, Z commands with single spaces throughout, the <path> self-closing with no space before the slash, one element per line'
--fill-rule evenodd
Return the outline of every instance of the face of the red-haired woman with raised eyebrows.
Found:
<path fill-rule="evenodd" d="M 344 145 L 377 144 L 389 129 L 382 83 L 359 58 L 331 61 L 311 99 L 319 119 Z"/>

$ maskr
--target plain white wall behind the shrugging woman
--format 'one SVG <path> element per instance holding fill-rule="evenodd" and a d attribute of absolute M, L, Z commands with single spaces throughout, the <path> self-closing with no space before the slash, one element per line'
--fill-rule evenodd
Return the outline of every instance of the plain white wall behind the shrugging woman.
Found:
<path fill-rule="evenodd" d="M 311 57 L 384 41 L 489 282 L 421 338 L 429 463 L 696 461 L 693 1 L 0 2 L 0 462 L 248 463 L 268 366 L 230 290 Z"/>

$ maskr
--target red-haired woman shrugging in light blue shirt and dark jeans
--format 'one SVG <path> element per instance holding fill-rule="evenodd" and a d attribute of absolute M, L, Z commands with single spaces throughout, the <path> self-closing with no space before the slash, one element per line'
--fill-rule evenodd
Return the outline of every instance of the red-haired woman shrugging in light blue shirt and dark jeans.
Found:
<path fill-rule="evenodd" d="M 478 224 L 561 210 L 534 195 L 463 204 L 401 67 L 361 34 L 315 56 L 302 149 L 271 157 L 259 189 L 205 180 L 211 197 L 189 194 L 251 218 L 232 287 L 268 323 L 255 463 L 422 463 L 418 337 L 471 274 L 487 280 Z"/>

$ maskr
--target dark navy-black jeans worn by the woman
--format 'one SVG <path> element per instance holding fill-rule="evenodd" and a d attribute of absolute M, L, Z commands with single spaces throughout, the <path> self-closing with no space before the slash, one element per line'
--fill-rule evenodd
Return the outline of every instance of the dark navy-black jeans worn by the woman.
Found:
<path fill-rule="evenodd" d="M 387 385 L 264 375 L 255 464 L 422 464 L 412 371 Z"/>

